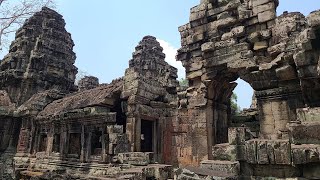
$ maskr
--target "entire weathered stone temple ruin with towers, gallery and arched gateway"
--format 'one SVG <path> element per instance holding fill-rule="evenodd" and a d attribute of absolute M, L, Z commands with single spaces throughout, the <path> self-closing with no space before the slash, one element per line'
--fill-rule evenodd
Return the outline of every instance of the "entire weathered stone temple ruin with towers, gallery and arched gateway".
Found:
<path fill-rule="evenodd" d="M 74 85 L 74 43 L 43 8 L 0 62 L 1 179 L 320 179 L 320 11 L 202 0 L 179 27 L 177 69 L 155 37 L 123 77 Z M 231 113 L 241 78 L 251 109 Z"/>

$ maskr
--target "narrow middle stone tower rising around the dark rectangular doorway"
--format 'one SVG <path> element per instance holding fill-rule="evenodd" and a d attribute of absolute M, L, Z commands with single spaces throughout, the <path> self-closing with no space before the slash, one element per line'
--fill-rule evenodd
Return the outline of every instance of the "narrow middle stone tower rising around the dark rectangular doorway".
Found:
<path fill-rule="evenodd" d="M 125 72 L 121 98 L 126 101 L 127 134 L 132 151 L 141 151 L 142 121 L 153 123 L 152 152 L 159 155 L 166 137 L 166 123 L 176 107 L 177 69 L 165 62 L 163 48 L 155 37 L 146 36 L 135 48 L 129 68 Z"/>

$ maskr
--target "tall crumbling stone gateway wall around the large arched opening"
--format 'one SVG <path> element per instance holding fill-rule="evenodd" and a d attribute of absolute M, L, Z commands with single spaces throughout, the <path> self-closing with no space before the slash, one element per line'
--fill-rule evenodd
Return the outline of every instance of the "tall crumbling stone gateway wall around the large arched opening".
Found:
<path fill-rule="evenodd" d="M 263 138 L 286 138 L 296 108 L 317 106 L 319 12 L 307 18 L 288 12 L 277 17 L 278 4 L 205 0 L 191 8 L 190 22 L 179 27 L 177 59 L 190 84 L 188 111 L 199 114 L 189 117 L 198 127 L 192 129 L 193 138 L 203 141 L 202 150 L 194 153 L 199 159 L 210 156 L 213 144 L 226 142 L 230 96 L 239 77 L 255 90 Z"/>

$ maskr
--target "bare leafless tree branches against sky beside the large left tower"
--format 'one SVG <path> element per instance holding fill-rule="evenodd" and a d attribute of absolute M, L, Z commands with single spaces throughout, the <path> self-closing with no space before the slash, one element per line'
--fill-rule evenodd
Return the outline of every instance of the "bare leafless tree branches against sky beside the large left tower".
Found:
<path fill-rule="evenodd" d="M 9 46 L 10 35 L 42 7 L 54 7 L 54 0 L 0 0 L 0 51 Z"/>

